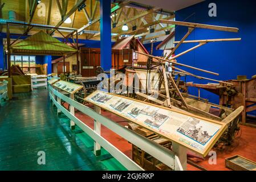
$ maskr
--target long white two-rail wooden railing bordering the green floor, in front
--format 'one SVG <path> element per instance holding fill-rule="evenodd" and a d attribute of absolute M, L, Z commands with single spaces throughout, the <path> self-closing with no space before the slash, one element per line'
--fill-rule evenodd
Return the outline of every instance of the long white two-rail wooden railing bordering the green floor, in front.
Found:
<path fill-rule="evenodd" d="M 120 126 L 114 121 L 111 121 L 108 118 L 105 118 L 103 115 L 97 113 L 96 111 L 92 110 L 90 107 L 84 106 L 79 102 L 72 100 L 70 97 L 64 96 L 62 93 L 58 92 L 52 88 L 51 85 L 49 87 L 49 94 L 50 99 L 52 100 L 53 104 L 58 108 L 59 111 L 62 111 L 72 122 L 74 122 L 80 129 L 82 129 L 86 134 L 88 134 L 94 141 L 95 144 L 99 144 L 105 150 L 109 152 L 115 159 L 117 159 L 125 168 L 128 170 L 144 170 L 139 165 L 137 165 L 133 160 L 128 158 L 123 152 L 118 150 L 115 146 L 109 143 L 106 139 L 101 137 L 99 131 L 92 130 L 89 126 L 85 123 L 80 121 L 80 119 L 75 117 L 74 112 L 68 111 L 65 107 L 60 104 L 60 101 L 63 100 L 70 104 L 70 107 L 74 107 L 75 109 L 81 111 L 82 113 L 88 115 L 89 117 L 93 118 L 95 122 L 99 122 L 109 130 L 113 131 L 114 133 L 120 135 L 128 142 L 135 144 L 135 146 L 141 148 L 141 150 L 147 152 L 148 154 L 152 155 L 154 158 L 160 160 L 162 163 L 166 164 L 170 168 L 174 170 L 183 170 L 182 165 L 180 163 L 180 159 L 174 152 L 168 150 L 165 147 L 160 146 L 156 142 L 149 140 L 132 130 L 129 130 L 123 126 Z"/>

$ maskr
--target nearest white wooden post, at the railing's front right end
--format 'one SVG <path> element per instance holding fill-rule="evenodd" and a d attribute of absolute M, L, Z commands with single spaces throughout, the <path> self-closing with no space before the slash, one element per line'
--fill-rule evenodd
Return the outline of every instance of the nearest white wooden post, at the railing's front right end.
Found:
<path fill-rule="evenodd" d="M 179 160 L 174 160 L 174 170 L 186 171 L 187 165 L 187 150 L 176 142 L 172 142 L 173 152 L 178 156 Z"/>

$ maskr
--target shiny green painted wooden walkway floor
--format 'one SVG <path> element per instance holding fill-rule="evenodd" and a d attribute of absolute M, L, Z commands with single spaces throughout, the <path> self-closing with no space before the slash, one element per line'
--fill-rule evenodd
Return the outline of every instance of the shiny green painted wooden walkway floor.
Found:
<path fill-rule="evenodd" d="M 57 117 L 47 90 L 14 97 L 0 108 L 0 170 L 126 170 L 104 149 L 93 154 L 93 140 Z M 38 151 L 46 165 L 38 164 Z"/>

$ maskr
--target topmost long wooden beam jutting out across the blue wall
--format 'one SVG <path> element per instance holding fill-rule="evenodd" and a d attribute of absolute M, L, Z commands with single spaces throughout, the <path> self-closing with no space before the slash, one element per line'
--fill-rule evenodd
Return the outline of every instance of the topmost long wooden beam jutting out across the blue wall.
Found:
<path fill-rule="evenodd" d="M 238 32 L 238 28 L 234 27 L 222 27 L 222 26 L 214 26 L 209 24 L 200 24 L 200 23 L 190 23 L 190 22 L 179 22 L 179 21 L 173 21 L 173 20 L 160 20 L 161 23 L 167 23 L 167 24 L 176 24 L 179 26 L 186 26 L 186 27 L 192 27 L 192 28 L 205 28 L 210 30 L 218 30 L 218 31 L 228 31 L 228 32 Z"/>

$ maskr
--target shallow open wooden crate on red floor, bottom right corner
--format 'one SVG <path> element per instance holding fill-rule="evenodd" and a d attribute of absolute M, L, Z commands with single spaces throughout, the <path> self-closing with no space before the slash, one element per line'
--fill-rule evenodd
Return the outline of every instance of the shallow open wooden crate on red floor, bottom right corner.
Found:
<path fill-rule="evenodd" d="M 234 171 L 256 171 L 256 163 L 239 155 L 225 159 L 225 166 Z"/>

